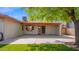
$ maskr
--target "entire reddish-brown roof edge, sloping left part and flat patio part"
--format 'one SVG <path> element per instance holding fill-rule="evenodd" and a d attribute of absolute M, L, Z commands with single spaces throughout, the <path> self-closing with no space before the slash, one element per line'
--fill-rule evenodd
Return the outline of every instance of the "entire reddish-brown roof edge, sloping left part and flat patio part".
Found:
<path fill-rule="evenodd" d="M 41 22 L 24 22 L 24 21 L 18 21 L 16 20 L 15 18 L 13 17 L 10 17 L 8 15 L 3 15 L 3 14 L 0 14 L 0 19 L 5 19 L 5 20 L 12 20 L 12 21 L 15 21 L 15 22 L 18 22 L 18 23 L 21 23 L 21 24 L 24 24 L 24 25 L 30 25 L 30 26 L 59 26 L 61 23 L 41 23 Z"/>

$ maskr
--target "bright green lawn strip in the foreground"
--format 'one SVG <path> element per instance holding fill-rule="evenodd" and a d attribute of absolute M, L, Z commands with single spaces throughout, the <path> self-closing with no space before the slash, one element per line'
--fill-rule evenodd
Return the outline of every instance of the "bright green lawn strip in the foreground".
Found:
<path fill-rule="evenodd" d="M 0 44 L 0 51 L 77 51 L 63 44 Z"/>

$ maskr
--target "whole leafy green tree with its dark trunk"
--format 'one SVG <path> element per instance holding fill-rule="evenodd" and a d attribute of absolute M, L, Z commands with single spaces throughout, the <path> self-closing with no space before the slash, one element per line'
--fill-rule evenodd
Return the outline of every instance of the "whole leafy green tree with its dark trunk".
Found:
<path fill-rule="evenodd" d="M 26 10 L 24 8 L 24 10 Z M 30 7 L 26 12 L 30 21 L 52 22 L 73 21 L 75 26 L 75 44 L 79 46 L 79 8 L 78 7 Z"/>

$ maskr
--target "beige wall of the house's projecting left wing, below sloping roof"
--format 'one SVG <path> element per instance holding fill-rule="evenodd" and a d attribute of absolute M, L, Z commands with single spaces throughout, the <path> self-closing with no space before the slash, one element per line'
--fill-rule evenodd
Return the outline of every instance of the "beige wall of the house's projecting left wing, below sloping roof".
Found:
<path fill-rule="evenodd" d="M 4 37 L 5 39 L 14 38 L 22 34 L 20 30 L 20 24 L 18 22 L 13 22 L 10 20 L 4 21 Z"/>

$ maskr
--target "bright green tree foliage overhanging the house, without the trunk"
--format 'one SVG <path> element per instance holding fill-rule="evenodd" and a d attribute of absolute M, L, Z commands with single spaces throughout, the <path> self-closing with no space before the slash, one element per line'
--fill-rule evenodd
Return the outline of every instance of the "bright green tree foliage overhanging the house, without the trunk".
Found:
<path fill-rule="evenodd" d="M 75 10 L 75 16 L 79 19 L 79 8 L 78 7 L 29 7 L 24 9 L 28 15 L 30 21 L 41 21 L 41 22 L 53 22 L 57 21 L 66 21 L 70 22 L 71 17 L 67 12 Z"/>

